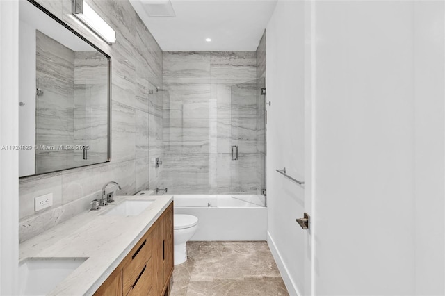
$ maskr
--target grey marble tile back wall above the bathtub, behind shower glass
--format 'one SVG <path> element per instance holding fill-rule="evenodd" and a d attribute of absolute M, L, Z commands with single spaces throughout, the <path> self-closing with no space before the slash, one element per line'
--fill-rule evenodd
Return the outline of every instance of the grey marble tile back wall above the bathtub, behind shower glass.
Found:
<path fill-rule="evenodd" d="M 255 51 L 170 51 L 163 65 L 169 192 L 256 193 Z M 231 145 L 239 146 L 239 161 L 232 161 Z"/>

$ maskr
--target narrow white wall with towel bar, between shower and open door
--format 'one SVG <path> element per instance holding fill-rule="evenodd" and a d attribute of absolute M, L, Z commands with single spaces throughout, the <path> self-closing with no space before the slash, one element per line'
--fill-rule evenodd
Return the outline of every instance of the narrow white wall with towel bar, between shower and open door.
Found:
<path fill-rule="evenodd" d="M 304 12 L 303 1 L 278 1 L 266 30 L 268 243 L 291 295 L 310 292 L 308 233 L 296 223 L 305 212 L 305 190 L 275 170 L 286 167 L 306 181 Z"/>

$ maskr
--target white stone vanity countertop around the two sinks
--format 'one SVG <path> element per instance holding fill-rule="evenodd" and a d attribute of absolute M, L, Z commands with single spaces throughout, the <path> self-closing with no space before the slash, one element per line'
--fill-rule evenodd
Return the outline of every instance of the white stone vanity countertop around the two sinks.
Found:
<path fill-rule="evenodd" d="M 137 216 L 106 216 L 124 200 L 155 202 Z M 99 211 L 81 213 L 19 245 L 19 260 L 26 258 L 88 258 L 49 295 L 92 295 L 152 227 L 172 195 L 117 196 Z"/>

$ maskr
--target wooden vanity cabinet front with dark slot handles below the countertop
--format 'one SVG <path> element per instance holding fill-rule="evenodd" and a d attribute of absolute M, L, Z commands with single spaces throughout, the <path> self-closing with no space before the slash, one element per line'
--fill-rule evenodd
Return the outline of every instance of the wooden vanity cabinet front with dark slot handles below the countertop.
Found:
<path fill-rule="evenodd" d="M 173 272 L 173 203 L 154 222 L 96 295 L 164 296 Z"/>

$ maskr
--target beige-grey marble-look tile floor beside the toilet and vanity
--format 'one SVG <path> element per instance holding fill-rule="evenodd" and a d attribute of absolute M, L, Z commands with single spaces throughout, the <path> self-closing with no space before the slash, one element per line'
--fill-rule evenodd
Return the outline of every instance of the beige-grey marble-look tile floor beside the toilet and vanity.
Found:
<path fill-rule="evenodd" d="M 266 242 L 187 242 L 171 296 L 289 295 Z"/>

